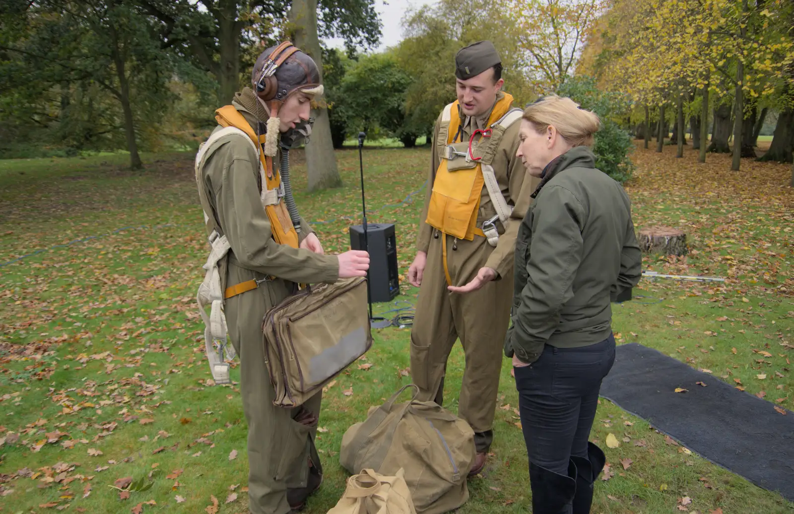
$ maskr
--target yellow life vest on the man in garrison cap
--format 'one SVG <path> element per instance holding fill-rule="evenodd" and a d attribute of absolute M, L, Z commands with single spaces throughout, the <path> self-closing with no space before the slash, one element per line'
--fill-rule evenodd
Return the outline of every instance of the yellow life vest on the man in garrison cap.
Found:
<path fill-rule="evenodd" d="M 497 130 L 492 125 L 503 120 L 508 113 L 514 114 L 513 110 L 519 111 L 519 109 L 511 109 L 512 103 L 513 97 L 505 93 L 504 97 L 494 105 L 491 116 L 488 117 L 488 127 L 485 131 L 476 131 L 472 134 L 466 148 L 463 148 L 465 144 L 458 145 L 460 148 L 450 146 L 461 126 L 457 100 L 444 108 L 437 138 L 441 163 L 438 165 L 433 192 L 430 194 L 427 224 L 458 239 L 471 241 L 475 235 L 484 236 L 482 229 L 476 226 L 480 196 L 485 184 L 482 166 L 490 165 L 499 140 L 504 134 L 504 128 Z M 515 116 L 520 117 L 518 113 L 515 113 Z M 480 135 L 482 132 L 487 132 L 490 136 Z M 477 135 L 480 135 L 480 138 L 475 141 Z M 487 142 L 484 142 L 486 139 Z M 453 171 L 449 169 L 451 163 L 456 163 Z"/>

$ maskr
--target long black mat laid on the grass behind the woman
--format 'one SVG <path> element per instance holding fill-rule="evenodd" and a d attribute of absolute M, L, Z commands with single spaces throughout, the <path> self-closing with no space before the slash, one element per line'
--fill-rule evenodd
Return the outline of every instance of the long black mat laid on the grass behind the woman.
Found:
<path fill-rule="evenodd" d="M 617 348 L 600 394 L 701 457 L 794 501 L 794 412 L 784 416 L 773 403 L 638 343 Z"/>

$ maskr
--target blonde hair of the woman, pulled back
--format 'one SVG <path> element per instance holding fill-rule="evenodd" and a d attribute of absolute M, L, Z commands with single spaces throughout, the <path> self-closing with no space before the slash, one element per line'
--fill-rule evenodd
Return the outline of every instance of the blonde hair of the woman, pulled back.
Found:
<path fill-rule="evenodd" d="M 597 114 L 582 109 L 570 98 L 556 94 L 527 105 L 522 117 L 531 121 L 540 134 L 545 133 L 549 125 L 553 126 L 568 144 L 575 147 L 592 146 L 593 134 L 601 126 Z"/>

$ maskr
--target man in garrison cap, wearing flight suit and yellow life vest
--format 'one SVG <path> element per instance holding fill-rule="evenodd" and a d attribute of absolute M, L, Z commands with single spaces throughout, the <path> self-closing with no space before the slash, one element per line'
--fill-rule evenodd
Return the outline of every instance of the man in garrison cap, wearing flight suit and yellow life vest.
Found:
<path fill-rule="evenodd" d="M 449 352 L 465 354 L 458 415 L 475 432 L 475 476 L 486 465 L 502 347 L 510 322 L 518 226 L 538 179 L 518 150 L 521 109 L 502 91 L 502 63 L 490 41 L 455 56 L 457 101 L 439 115 L 430 186 L 419 219 L 408 282 L 419 287 L 410 371 L 422 400 L 443 399 Z"/>

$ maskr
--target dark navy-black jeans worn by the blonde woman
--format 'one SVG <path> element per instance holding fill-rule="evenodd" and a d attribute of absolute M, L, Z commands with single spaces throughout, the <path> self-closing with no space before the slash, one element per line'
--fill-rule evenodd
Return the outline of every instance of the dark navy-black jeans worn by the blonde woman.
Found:
<path fill-rule="evenodd" d="M 615 337 L 579 348 L 548 344 L 515 368 L 518 409 L 530 462 L 565 475 L 571 455 L 588 457 L 601 381 L 615 363 Z"/>

